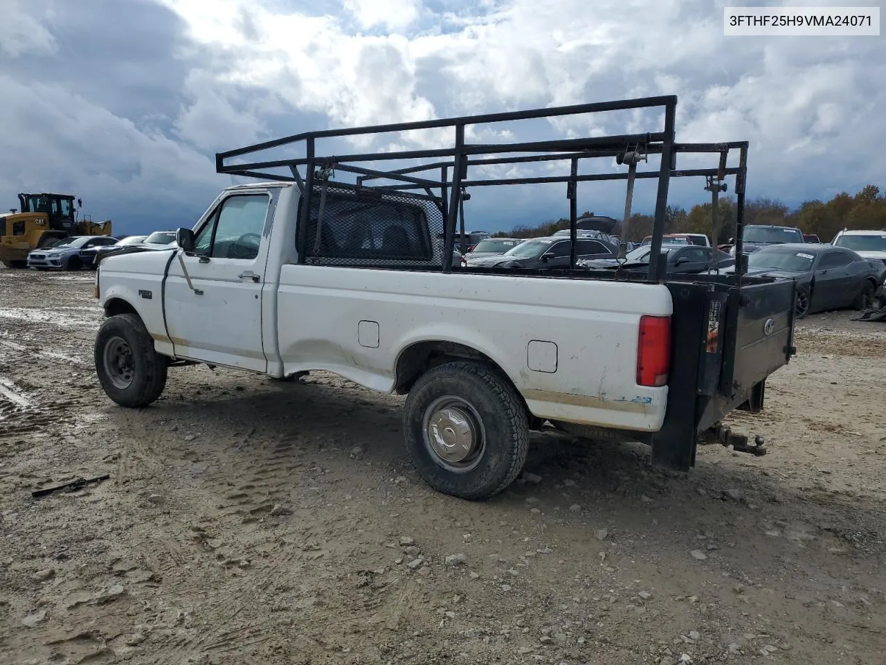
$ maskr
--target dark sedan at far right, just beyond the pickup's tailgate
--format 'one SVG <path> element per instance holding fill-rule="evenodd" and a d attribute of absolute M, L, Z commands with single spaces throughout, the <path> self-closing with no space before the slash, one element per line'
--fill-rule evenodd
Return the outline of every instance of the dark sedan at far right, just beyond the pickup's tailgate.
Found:
<path fill-rule="evenodd" d="M 797 280 L 797 318 L 828 309 L 872 309 L 886 266 L 851 249 L 812 243 L 768 246 L 750 254 L 748 275 Z"/>

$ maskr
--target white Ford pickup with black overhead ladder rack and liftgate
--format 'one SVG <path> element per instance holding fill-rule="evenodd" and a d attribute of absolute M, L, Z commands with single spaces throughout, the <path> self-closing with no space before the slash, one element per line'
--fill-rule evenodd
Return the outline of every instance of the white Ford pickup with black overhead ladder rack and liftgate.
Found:
<path fill-rule="evenodd" d="M 323 130 L 219 153 L 219 173 L 262 182 L 224 189 L 191 229 L 177 231 L 175 247 L 123 248 L 99 263 L 101 386 L 115 403 L 138 408 L 157 400 L 167 371 L 180 364 L 276 378 L 335 372 L 408 395 L 408 456 L 431 487 L 466 499 L 508 487 L 524 465 L 530 431 L 541 428 L 647 442 L 655 463 L 681 470 L 695 464 L 704 442 L 762 454 L 760 442 L 749 444 L 721 419 L 762 409 L 767 376 L 795 352 L 793 282 L 751 278 L 742 267 L 664 279 L 660 261 L 642 270 L 576 265 L 578 185 L 594 180 L 627 181 L 627 219 L 635 179 L 657 178 L 651 244 L 664 258 L 670 178 L 734 176 L 741 239 L 748 144 L 675 142 L 676 103 L 630 99 Z M 637 108 L 663 108 L 664 130 L 465 141 L 472 124 Z M 455 135 L 450 147 L 318 153 L 328 139 L 341 146 L 348 137 L 445 128 Z M 291 145 L 306 156 L 244 161 Z M 728 166 L 736 152 L 738 165 Z M 680 153 L 718 154 L 719 167 L 680 171 Z M 649 156 L 660 166 L 638 170 Z M 601 157 L 626 171 L 579 175 L 581 160 Z M 385 160 L 411 166 L 366 166 Z M 545 161 L 571 168 L 563 176 L 469 178 L 475 166 Z M 568 267 L 471 268 L 447 260 L 459 226 L 464 233 L 468 189 L 536 183 L 565 185 Z"/>

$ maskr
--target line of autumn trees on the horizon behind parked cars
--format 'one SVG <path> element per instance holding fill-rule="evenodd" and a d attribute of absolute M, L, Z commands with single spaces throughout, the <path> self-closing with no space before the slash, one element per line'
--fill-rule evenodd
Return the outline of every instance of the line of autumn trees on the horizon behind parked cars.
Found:
<path fill-rule="evenodd" d="M 688 211 L 680 206 L 668 206 L 664 214 L 664 232 L 705 233 L 710 237 L 712 221 L 711 203 L 698 204 Z M 652 233 L 652 223 L 652 215 L 634 213 L 628 224 L 626 239 L 639 241 L 649 236 Z M 886 194 L 882 194 L 876 185 L 868 184 L 854 196 L 840 192 L 828 201 L 804 201 L 793 210 L 778 200 L 745 200 L 744 223 L 796 226 L 804 233 L 814 233 L 822 242 L 830 242 L 837 231 L 843 229 L 886 230 Z M 560 218 L 538 226 L 516 226 L 511 231 L 501 231 L 494 235 L 500 238 L 540 238 L 568 228 L 569 220 Z M 720 196 L 719 238 L 716 239 L 716 244 L 721 245 L 734 238 L 735 229 L 735 198 Z"/>

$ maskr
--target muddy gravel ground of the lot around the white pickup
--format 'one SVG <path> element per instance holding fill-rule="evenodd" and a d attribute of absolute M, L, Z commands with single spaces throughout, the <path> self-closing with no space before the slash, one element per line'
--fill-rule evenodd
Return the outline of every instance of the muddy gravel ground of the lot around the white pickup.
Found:
<path fill-rule="evenodd" d="M 113 405 L 91 280 L 0 270 L 0 662 L 886 658 L 886 324 L 799 324 L 765 414 L 732 419 L 765 458 L 662 473 L 540 435 L 469 503 L 409 467 L 400 398 L 330 375 L 176 369 Z"/>

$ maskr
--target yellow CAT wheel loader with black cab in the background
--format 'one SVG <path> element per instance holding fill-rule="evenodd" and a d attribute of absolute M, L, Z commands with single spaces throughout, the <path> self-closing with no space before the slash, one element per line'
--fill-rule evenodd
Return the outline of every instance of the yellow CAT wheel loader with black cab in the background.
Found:
<path fill-rule="evenodd" d="M 111 220 L 78 217 L 82 201 L 71 194 L 19 194 L 19 209 L 0 214 L 0 262 L 7 268 L 27 267 L 27 253 L 68 236 L 110 236 Z"/>

